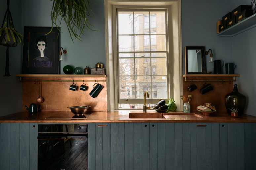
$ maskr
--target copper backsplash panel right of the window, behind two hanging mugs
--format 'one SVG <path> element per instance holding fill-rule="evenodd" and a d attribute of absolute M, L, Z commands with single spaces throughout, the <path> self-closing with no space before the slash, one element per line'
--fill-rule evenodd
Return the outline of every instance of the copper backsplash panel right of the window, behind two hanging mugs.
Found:
<path fill-rule="evenodd" d="M 192 78 L 190 78 L 192 79 Z M 232 77 L 210 77 L 211 80 L 232 80 Z M 193 77 L 193 80 L 202 80 L 202 77 Z M 190 83 L 193 83 L 197 86 L 197 89 L 189 92 L 188 86 Z M 187 98 L 188 95 L 192 95 L 192 100 L 189 102 L 191 106 L 191 111 L 197 111 L 197 106 L 203 105 L 204 103 L 212 103 L 216 106 L 217 111 L 226 111 L 225 108 L 225 95 L 232 92 L 233 82 L 215 82 L 209 81 L 206 83 L 212 85 L 213 90 L 208 93 L 201 94 L 200 89 L 203 87 L 205 81 L 186 81 L 183 77 L 183 96 Z M 186 100 L 187 102 L 187 100 Z"/>

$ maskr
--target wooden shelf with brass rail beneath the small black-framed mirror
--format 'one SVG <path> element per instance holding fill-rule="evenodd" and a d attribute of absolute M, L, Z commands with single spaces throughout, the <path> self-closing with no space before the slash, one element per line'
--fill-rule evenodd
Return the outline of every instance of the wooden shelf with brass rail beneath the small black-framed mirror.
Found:
<path fill-rule="evenodd" d="M 185 82 L 193 82 L 193 81 L 209 81 L 209 82 L 235 82 L 236 77 L 240 77 L 240 74 L 183 74 L 185 78 Z M 197 77 L 197 79 L 193 79 L 193 77 Z M 200 77 L 200 79 L 198 79 Z M 231 77 L 232 79 L 224 80 L 223 77 Z M 213 79 L 215 78 L 215 79 Z"/>

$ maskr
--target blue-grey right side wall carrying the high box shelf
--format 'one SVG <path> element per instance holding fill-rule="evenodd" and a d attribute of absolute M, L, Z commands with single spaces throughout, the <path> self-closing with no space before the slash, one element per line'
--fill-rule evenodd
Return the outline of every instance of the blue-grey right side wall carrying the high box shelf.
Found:
<path fill-rule="evenodd" d="M 232 10 L 239 5 L 250 5 L 248 0 L 233 0 L 230 4 L 229 10 Z M 256 27 L 245 31 L 236 36 L 230 37 L 231 40 L 231 63 L 234 62 L 237 66 L 236 74 L 240 74 L 237 78 L 238 91 L 244 94 L 247 98 L 246 114 L 256 116 L 254 99 L 256 96 L 256 55 L 255 55 L 255 41 L 256 41 Z"/>

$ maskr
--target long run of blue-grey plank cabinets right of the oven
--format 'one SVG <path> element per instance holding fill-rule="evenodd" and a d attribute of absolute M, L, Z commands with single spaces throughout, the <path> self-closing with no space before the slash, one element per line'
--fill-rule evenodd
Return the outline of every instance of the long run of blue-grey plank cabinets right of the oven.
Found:
<path fill-rule="evenodd" d="M 101 124 L 89 123 L 89 169 L 256 167 L 256 123 Z"/>

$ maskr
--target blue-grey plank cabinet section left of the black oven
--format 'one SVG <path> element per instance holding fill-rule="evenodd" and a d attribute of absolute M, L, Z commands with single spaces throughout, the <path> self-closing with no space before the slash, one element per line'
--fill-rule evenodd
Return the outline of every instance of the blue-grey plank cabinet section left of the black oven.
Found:
<path fill-rule="evenodd" d="M 0 123 L 0 169 L 37 169 L 37 123 Z"/>

